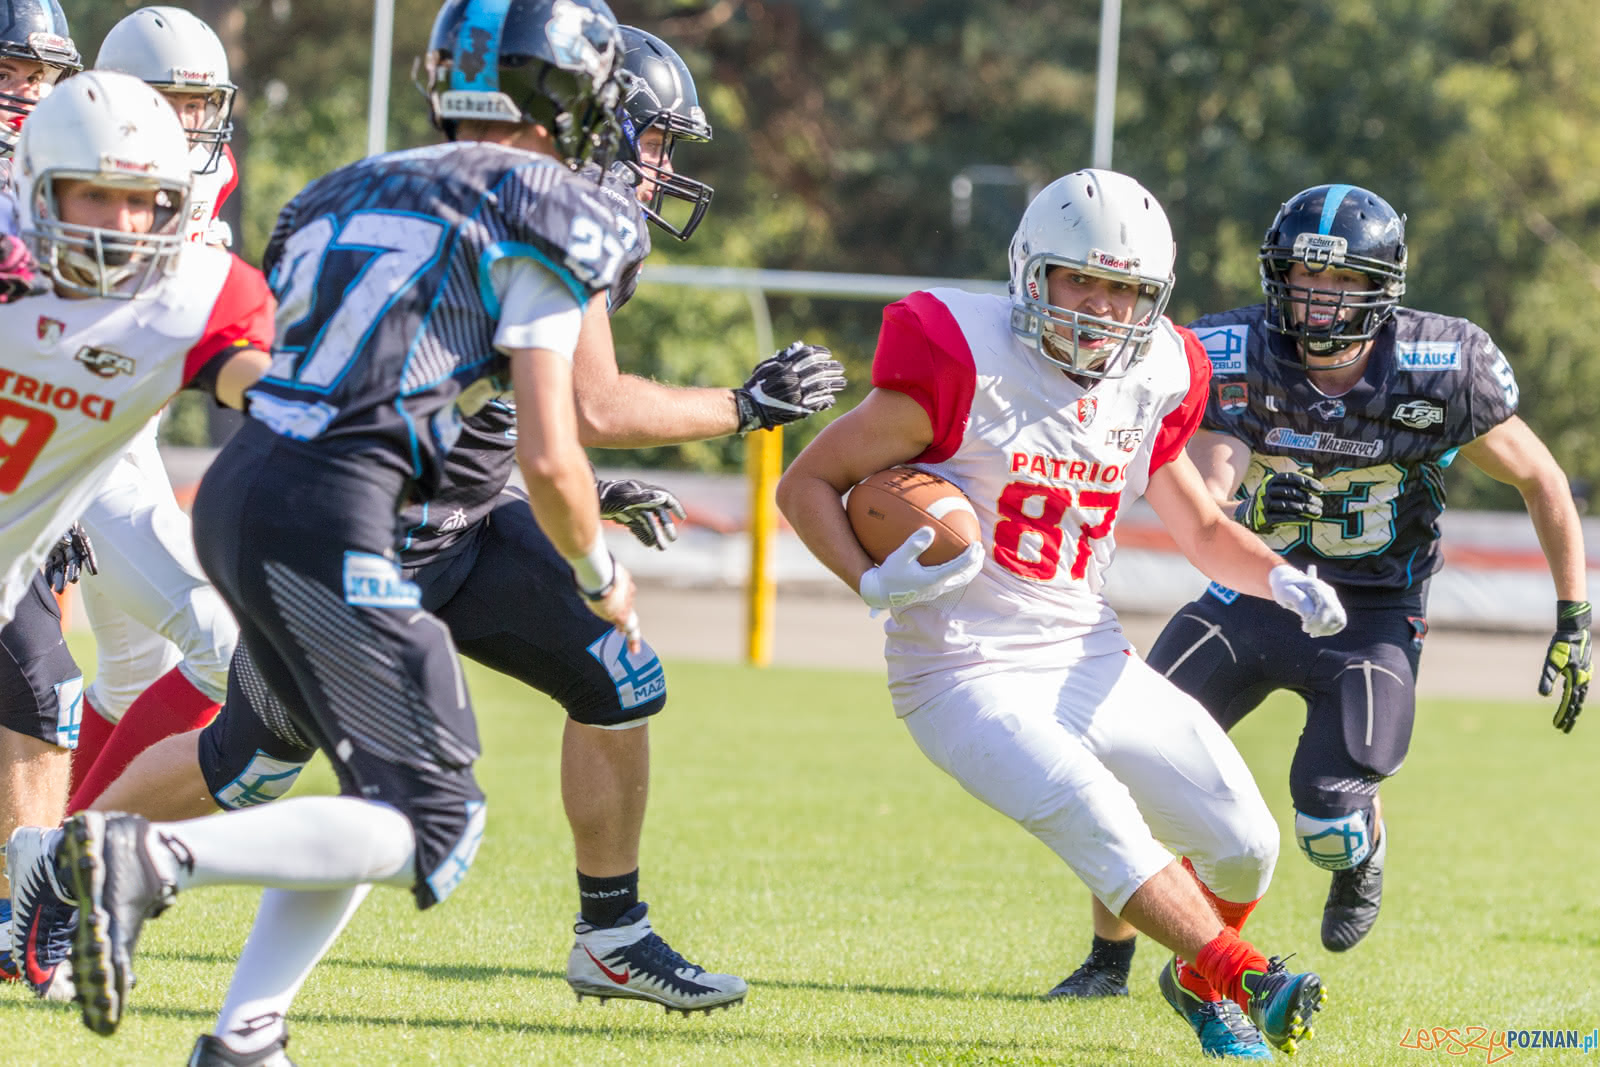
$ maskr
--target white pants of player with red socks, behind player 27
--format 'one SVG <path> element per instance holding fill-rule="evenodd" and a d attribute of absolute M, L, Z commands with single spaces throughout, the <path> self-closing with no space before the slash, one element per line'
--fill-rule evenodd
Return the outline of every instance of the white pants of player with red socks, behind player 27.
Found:
<path fill-rule="evenodd" d="M 98 646 L 88 696 L 110 721 L 174 665 L 222 701 L 238 643 L 238 624 L 195 558 L 189 515 L 155 446 L 155 422 L 128 445 L 80 520 L 99 565 L 99 574 L 78 581 Z"/>

